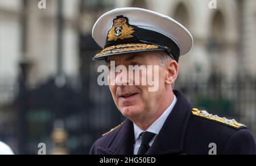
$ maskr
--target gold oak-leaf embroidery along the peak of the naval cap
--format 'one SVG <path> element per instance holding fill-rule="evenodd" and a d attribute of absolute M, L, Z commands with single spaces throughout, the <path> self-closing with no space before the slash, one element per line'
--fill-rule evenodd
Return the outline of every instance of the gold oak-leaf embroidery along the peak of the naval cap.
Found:
<path fill-rule="evenodd" d="M 118 48 L 118 49 L 116 49 Z M 146 49 L 157 49 L 159 48 L 156 45 L 148 45 L 148 44 L 120 44 L 113 45 L 112 47 L 107 47 L 103 49 L 100 53 L 97 53 L 97 56 L 108 55 L 110 53 L 117 52 L 126 52 L 126 51 L 137 51 L 137 50 L 146 50 Z"/>

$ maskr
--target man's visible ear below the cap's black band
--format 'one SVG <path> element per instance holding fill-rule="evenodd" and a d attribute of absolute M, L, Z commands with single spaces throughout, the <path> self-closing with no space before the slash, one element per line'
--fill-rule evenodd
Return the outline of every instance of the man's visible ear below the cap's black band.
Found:
<path fill-rule="evenodd" d="M 179 65 L 175 60 L 171 60 L 166 64 L 166 84 L 172 85 L 177 79 L 177 75 L 179 72 Z"/>

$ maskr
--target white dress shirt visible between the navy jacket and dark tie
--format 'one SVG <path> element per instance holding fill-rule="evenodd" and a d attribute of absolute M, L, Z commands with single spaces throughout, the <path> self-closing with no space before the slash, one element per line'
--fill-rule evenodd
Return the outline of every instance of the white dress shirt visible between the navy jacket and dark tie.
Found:
<path fill-rule="evenodd" d="M 174 101 L 172 101 L 171 105 L 164 111 L 164 113 L 153 124 L 151 124 L 150 127 L 147 128 L 146 131 L 152 132 L 155 134 L 154 138 L 149 143 L 150 147 L 154 143 L 156 136 L 158 136 L 161 128 L 163 127 L 164 122 L 166 122 L 166 119 L 171 114 L 172 109 L 174 109 L 176 102 L 177 102 L 177 97 L 174 96 Z M 137 155 L 137 153 L 139 151 L 139 147 L 141 147 L 141 136 L 139 136 L 139 135 L 141 135 L 141 133 L 145 132 L 145 131 L 141 130 L 141 128 L 139 128 L 134 123 L 133 123 L 133 126 L 134 126 L 134 139 L 135 139 L 133 153 L 134 153 L 134 155 Z"/>

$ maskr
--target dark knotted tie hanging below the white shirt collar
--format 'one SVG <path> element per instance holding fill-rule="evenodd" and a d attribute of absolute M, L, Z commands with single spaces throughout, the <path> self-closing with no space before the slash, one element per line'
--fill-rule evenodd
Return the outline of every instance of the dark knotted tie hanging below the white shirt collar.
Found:
<path fill-rule="evenodd" d="M 149 143 L 154 138 L 155 134 L 152 132 L 142 132 L 141 147 L 139 147 L 138 155 L 144 155 L 150 148 Z"/>

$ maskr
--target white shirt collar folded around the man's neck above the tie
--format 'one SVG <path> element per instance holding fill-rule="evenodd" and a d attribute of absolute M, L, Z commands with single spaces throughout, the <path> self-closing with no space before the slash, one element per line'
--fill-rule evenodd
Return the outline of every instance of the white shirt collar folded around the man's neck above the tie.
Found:
<path fill-rule="evenodd" d="M 177 102 L 177 97 L 174 96 L 174 101 L 172 101 L 171 105 L 164 111 L 164 113 L 153 124 L 151 124 L 150 127 L 147 128 L 146 131 L 152 132 L 158 135 L 161 128 L 163 127 L 164 122 L 166 122 L 166 119 L 171 114 L 172 109 L 174 109 L 176 102 Z M 134 123 L 133 123 L 133 126 L 134 126 L 134 138 L 136 142 L 136 140 L 139 138 L 139 135 L 145 131 L 141 130 L 141 128 L 139 128 Z"/>

